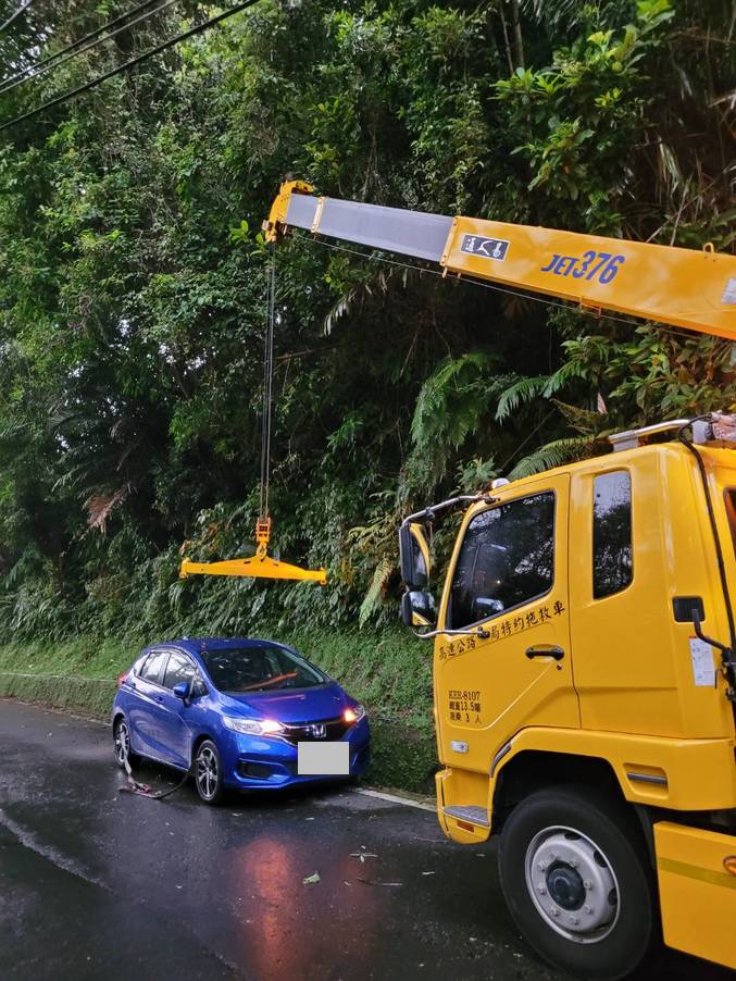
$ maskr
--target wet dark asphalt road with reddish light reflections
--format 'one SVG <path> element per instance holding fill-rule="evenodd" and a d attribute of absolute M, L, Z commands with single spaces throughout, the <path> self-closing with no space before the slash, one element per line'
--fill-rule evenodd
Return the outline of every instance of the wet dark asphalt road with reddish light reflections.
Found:
<path fill-rule="evenodd" d="M 2 981 L 562 978 L 516 934 L 495 846 L 447 842 L 434 814 L 339 787 L 208 808 L 123 783 L 107 728 L 0 699 Z M 733 976 L 668 955 L 657 977 Z"/>

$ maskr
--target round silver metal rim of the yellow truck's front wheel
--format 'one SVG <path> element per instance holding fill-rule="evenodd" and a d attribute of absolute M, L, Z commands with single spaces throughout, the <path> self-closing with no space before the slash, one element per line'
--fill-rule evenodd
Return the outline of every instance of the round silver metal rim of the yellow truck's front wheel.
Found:
<path fill-rule="evenodd" d="M 535 834 L 524 861 L 526 889 L 548 927 L 576 944 L 604 940 L 619 921 L 621 894 L 611 862 L 575 828 Z"/>

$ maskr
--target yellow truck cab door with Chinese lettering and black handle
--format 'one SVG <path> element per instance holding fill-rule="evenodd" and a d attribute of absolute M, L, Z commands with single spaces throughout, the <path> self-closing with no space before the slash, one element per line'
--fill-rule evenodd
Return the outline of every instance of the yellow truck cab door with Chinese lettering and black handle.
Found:
<path fill-rule="evenodd" d="M 466 519 L 440 626 L 435 699 L 440 759 L 487 775 L 526 725 L 579 725 L 567 608 L 570 477 L 544 475 Z"/>

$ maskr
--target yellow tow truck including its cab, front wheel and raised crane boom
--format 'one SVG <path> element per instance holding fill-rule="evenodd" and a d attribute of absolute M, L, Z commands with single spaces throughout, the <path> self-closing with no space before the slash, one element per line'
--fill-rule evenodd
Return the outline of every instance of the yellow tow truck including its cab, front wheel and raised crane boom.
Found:
<path fill-rule="evenodd" d="M 736 259 L 711 248 L 311 191 L 282 187 L 267 238 L 301 228 L 736 340 Z M 439 822 L 499 836 L 511 915 L 563 970 L 623 978 L 660 932 L 736 968 L 736 418 L 611 444 L 400 529 L 402 616 L 434 639 Z M 457 509 L 435 597 L 428 532 Z"/>

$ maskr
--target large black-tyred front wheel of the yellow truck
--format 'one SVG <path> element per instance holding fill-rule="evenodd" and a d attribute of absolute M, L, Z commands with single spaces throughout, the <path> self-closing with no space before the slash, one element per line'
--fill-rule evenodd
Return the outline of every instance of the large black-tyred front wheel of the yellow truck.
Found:
<path fill-rule="evenodd" d="M 656 933 L 656 898 L 638 828 L 619 802 L 584 787 L 532 794 L 501 834 L 511 916 L 534 949 L 578 978 L 615 981 Z"/>

